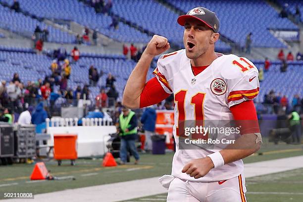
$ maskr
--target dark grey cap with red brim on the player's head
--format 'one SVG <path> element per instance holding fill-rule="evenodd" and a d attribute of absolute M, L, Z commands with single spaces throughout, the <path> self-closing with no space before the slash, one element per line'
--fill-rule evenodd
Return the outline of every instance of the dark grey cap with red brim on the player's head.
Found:
<path fill-rule="evenodd" d="M 219 19 L 216 13 L 204 7 L 196 7 L 178 17 L 177 22 L 179 25 L 184 26 L 185 22 L 189 19 L 197 19 L 206 24 L 215 33 L 219 32 Z"/>

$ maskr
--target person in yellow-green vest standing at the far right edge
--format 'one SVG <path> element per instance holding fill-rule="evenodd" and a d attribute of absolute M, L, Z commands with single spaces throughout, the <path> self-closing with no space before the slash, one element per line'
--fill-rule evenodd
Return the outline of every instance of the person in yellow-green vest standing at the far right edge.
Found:
<path fill-rule="evenodd" d="M 292 131 L 293 144 L 301 144 L 301 124 L 300 115 L 297 111 L 293 112 L 288 116 L 289 123 Z"/>

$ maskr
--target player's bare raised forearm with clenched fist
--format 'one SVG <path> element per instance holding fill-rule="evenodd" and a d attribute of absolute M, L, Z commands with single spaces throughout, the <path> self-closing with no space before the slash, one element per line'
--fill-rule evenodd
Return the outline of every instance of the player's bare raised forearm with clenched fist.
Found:
<path fill-rule="evenodd" d="M 152 37 L 152 40 L 147 45 L 147 48 L 142 53 L 140 60 L 128 78 L 122 98 L 123 105 L 129 108 L 140 107 L 140 95 L 144 89 L 152 59 L 155 55 L 161 54 L 169 48 L 169 43 L 165 37 L 158 35 Z"/>

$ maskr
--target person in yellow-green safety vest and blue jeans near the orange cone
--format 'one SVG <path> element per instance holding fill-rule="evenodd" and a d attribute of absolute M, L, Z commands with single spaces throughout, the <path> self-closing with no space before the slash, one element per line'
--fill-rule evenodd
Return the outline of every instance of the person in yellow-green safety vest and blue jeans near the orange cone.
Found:
<path fill-rule="evenodd" d="M 122 113 L 119 116 L 119 134 L 121 137 L 120 143 L 120 164 L 125 164 L 127 160 L 128 148 L 131 154 L 135 157 L 135 164 L 138 164 L 139 153 L 136 148 L 137 134 L 137 117 L 135 112 L 123 106 Z"/>

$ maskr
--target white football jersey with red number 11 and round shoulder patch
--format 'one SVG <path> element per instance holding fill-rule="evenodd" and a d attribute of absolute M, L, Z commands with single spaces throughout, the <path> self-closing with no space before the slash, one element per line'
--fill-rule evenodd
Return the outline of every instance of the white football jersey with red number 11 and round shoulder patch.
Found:
<path fill-rule="evenodd" d="M 244 168 L 243 161 L 237 160 L 213 168 L 199 179 L 181 172 L 190 160 L 206 157 L 216 151 L 179 149 L 179 121 L 233 120 L 229 108 L 255 98 L 259 92 L 258 70 L 251 61 L 234 54 L 217 54 L 219 57 L 196 76 L 185 50 L 161 55 L 154 70 L 165 92 L 174 94 L 173 135 L 176 153 L 172 162 L 172 175 L 181 179 L 203 182 L 226 180 L 239 176 Z"/>

